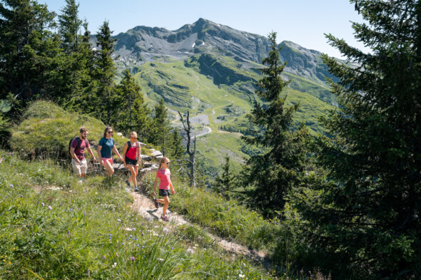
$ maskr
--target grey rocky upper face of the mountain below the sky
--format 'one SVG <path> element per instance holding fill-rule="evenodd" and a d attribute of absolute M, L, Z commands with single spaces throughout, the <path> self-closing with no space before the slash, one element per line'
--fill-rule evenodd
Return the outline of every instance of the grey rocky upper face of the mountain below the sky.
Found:
<path fill-rule="evenodd" d="M 264 36 L 238 31 L 206 19 L 198 19 L 194 24 L 186 24 L 175 31 L 136 26 L 114 38 L 117 38 L 118 59 L 124 68 L 133 68 L 134 72 L 136 66 L 162 56 L 181 60 L 196 56 L 201 67 L 208 68 L 208 72 L 215 62 L 215 58 L 210 55 L 228 56 L 243 68 L 255 69 L 270 48 L 268 38 Z M 283 47 L 280 56 L 288 63 L 285 72 L 320 85 L 325 85 L 326 76 L 332 78 L 319 51 L 308 50 L 290 41 L 283 41 L 280 46 Z M 214 73 L 221 74 L 220 71 Z M 215 83 L 225 83 L 221 81 L 226 78 L 225 74 L 215 76 Z"/>

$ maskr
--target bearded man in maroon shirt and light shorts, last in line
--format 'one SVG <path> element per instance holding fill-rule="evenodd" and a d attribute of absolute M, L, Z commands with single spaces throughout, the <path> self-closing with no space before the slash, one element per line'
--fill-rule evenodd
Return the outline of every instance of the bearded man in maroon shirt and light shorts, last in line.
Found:
<path fill-rule="evenodd" d="M 88 164 L 85 158 L 85 149 L 88 150 L 89 155 L 93 158 L 93 162 L 96 163 L 96 157 L 93 155 L 89 142 L 86 139 L 88 137 L 88 130 L 84 127 L 79 129 L 79 137 L 75 137 L 70 142 L 70 155 L 71 155 L 71 166 L 73 171 L 78 177 L 86 178 L 86 170 L 88 170 Z"/>

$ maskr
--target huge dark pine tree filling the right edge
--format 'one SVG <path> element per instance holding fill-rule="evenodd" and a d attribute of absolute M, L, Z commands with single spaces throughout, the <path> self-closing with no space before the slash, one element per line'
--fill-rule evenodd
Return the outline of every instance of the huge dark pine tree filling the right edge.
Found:
<path fill-rule="evenodd" d="M 318 143 L 328 180 L 296 203 L 304 242 L 359 279 L 419 279 L 421 3 L 351 2 L 367 21 L 352 24 L 355 37 L 372 52 L 327 36 L 355 64 L 323 56 L 340 78 L 330 82 L 340 109 L 323 120 L 331 139 Z"/>

